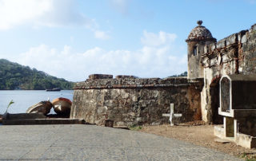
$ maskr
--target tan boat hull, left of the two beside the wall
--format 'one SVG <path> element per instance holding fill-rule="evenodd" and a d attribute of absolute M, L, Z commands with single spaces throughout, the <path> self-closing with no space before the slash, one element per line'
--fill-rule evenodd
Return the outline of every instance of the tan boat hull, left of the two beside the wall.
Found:
<path fill-rule="evenodd" d="M 50 101 L 41 101 L 28 108 L 26 113 L 43 113 L 44 115 L 47 115 L 50 113 L 52 107 L 53 104 L 51 104 Z"/>

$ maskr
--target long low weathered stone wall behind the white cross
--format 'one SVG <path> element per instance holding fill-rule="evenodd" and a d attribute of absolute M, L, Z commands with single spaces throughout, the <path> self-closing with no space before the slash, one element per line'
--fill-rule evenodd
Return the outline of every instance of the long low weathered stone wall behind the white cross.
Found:
<path fill-rule="evenodd" d="M 169 118 L 162 113 L 170 113 L 174 103 L 174 112 L 182 113 L 176 121 L 201 120 L 201 84 L 186 77 L 87 79 L 74 87 L 70 118 L 101 125 L 107 114 L 118 126 L 167 124 Z"/>

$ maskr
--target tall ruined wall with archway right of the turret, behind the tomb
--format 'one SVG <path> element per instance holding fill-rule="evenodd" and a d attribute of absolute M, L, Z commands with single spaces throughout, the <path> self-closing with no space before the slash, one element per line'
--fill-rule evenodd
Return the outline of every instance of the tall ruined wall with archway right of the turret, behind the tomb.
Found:
<path fill-rule="evenodd" d="M 213 123 L 218 109 L 218 81 L 226 74 L 256 73 L 256 24 L 249 30 L 234 33 L 217 43 L 205 45 L 202 54 L 204 86 L 202 120 Z M 215 89 L 214 89 L 215 88 Z M 214 105 L 213 105 L 214 104 Z"/>

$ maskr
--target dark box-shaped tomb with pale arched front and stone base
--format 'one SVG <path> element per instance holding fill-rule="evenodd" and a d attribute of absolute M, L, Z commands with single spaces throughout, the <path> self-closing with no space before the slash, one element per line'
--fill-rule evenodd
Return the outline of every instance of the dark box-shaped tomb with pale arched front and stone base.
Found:
<path fill-rule="evenodd" d="M 214 135 L 242 147 L 256 147 L 256 75 L 226 75 L 220 80 L 218 114 L 224 124 Z"/>

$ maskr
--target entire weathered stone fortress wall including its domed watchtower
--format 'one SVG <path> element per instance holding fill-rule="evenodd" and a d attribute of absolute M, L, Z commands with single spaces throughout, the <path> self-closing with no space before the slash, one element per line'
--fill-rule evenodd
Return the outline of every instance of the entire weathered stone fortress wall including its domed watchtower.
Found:
<path fill-rule="evenodd" d="M 204 120 L 222 124 L 218 115 L 219 80 L 226 74 L 256 73 L 256 24 L 220 41 L 198 26 L 186 39 L 188 77 L 136 78 L 90 75 L 74 87 L 70 118 L 103 124 L 105 113 L 114 125 L 164 124 L 162 113 L 182 113 L 182 122 Z M 107 110 L 106 110 L 107 109 Z"/>

